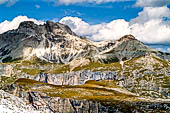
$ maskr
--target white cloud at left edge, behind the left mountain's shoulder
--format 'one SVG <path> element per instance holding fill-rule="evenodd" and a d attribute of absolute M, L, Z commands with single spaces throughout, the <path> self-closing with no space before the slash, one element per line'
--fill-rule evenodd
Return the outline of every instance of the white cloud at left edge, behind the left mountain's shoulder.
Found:
<path fill-rule="evenodd" d="M 12 21 L 5 20 L 4 22 L 0 23 L 0 34 L 8 30 L 17 29 L 19 24 L 23 21 L 33 21 L 36 24 L 44 23 L 42 21 L 38 21 L 33 18 L 28 18 L 26 16 L 18 16 L 18 17 L 15 17 Z"/>

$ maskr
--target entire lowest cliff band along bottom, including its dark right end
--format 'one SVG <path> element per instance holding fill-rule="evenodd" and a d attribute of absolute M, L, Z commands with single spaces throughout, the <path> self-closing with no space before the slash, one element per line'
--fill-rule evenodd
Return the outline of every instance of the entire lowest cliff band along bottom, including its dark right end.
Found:
<path fill-rule="evenodd" d="M 47 113 L 133 113 L 170 110 L 170 104 L 161 102 L 97 102 L 49 97 L 39 92 L 28 92 L 27 99 L 34 109 Z"/>

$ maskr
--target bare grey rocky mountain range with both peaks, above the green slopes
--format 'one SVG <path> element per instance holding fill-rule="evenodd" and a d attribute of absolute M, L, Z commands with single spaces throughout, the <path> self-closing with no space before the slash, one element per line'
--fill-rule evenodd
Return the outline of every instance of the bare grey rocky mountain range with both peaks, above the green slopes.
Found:
<path fill-rule="evenodd" d="M 132 35 L 117 41 L 93 42 L 77 36 L 67 25 L 51 21 L 44 25 L 25 21 L 18 29 L 0 35 L 1 62 L 38 57 L 47 62 L 67 64 L 83 57 L 108 63 L 131 59 L 150 51 L 153 50 Z"/>

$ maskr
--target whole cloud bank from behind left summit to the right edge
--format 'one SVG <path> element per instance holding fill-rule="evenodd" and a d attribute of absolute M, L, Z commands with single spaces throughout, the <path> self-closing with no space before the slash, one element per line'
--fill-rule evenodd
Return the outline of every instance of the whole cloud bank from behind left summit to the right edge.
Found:
<path fill-rule="evenodd" d="M 127 22 L 123 19 L 109 23 L 89 25 L 77 17 L 64 17 L 61 23 L 69 25 L 79 35 L 92 40 L 116 40 L 126 34 L 134 35 L 138 40 L 149 43 L 170 43 L 170 23 L 163 17 L 170 17 L 170 9 L 163 7 L 146 7 L 138 17 Z"/>

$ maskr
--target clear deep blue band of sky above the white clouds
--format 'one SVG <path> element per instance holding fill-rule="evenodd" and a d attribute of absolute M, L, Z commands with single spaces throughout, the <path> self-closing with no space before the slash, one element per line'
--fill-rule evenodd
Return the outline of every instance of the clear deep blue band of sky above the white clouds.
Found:
<path fill-rule="evenodd" d="M 0 22 L 12 20 L 18 15 L 26 15 L 38 20 L 59 20 L 65 16 L 76 16 L 90 24 L 109 22 L 120 18 L 129 21 L 142 10 L 140 7 L 132 7 L 134 4 L 135 1 L 65 5 L 43 0 L 20 0 L 10 7 L 6 6 L 7 3 L 0 5 Z"/>

